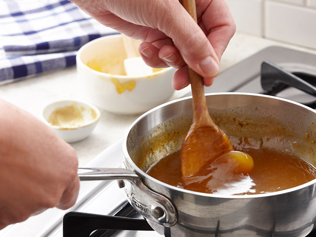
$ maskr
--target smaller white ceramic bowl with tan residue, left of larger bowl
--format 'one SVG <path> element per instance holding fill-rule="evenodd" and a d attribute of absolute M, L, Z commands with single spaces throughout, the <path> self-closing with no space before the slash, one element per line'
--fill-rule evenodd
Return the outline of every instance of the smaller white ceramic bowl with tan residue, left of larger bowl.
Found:
<path fill-rule="evenodd" d="M 42 116 L 60 138 L 71 143 L 81 141 L 92 133 L 100 111 L 90 103 L 60 100 L 48 104 Z"/>

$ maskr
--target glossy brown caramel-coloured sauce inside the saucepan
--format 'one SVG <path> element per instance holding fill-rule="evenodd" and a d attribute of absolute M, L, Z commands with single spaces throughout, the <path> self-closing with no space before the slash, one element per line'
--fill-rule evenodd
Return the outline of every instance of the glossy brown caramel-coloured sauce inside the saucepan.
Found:
<path fill-rule="evenodd" d="M 249 173 L 236 172 L 238 162 L 219 158 L 195 175 L 182 177 L 180 151 L 169 154 L 147 173 L 169 185 L 202 193 L 242 195 L 271 193 L 293 188 L 316 178 L 316 169 L 299 157 L 270 148 L 245 148 L 252 156 Z"/>

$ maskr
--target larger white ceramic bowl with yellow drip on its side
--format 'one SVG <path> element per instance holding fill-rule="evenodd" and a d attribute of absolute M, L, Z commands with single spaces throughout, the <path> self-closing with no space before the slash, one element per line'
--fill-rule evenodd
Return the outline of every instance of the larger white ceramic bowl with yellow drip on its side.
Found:
<path fill-rule="evenodd" d="M 83 98 L 99 108 L 124 115 L 143 113 L 168 101 L 175 92 L 171 85 L 174 68 L 141 77 L 119 75 L 124 74 L 124 59 L 121 35 L 101 37 L 81 47 L 76 66 Z"/>

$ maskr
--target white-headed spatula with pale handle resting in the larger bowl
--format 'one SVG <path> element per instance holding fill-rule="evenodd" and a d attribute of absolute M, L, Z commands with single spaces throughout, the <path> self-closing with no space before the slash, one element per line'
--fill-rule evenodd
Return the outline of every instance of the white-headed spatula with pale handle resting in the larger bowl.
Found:
<path fill-rule="evenodd" d="M 138 45 L 140 40 L 129 38 L 122 35 L 124 48 L 127 59 L 124 60 L 125 73 L 128 76 L 146 76 L 153 73 L 152 68 L 149 67 L 138 53 Z"/>

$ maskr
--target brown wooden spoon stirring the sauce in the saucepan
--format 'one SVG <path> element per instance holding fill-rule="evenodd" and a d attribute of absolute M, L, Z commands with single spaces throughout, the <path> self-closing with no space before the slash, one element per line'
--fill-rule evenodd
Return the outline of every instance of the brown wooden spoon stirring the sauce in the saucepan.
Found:
<path fill-rule="evenodd" d="M 182 6 L 197 21 L 195 0 L 182 0 Z M 182 176 L 191 176 L 217 157 L 233 150 L 226 134 L 210 117 L 204 95 L 203 77 L 189 68 L 193 96 L 193 121 L 180 152 Z"/>

